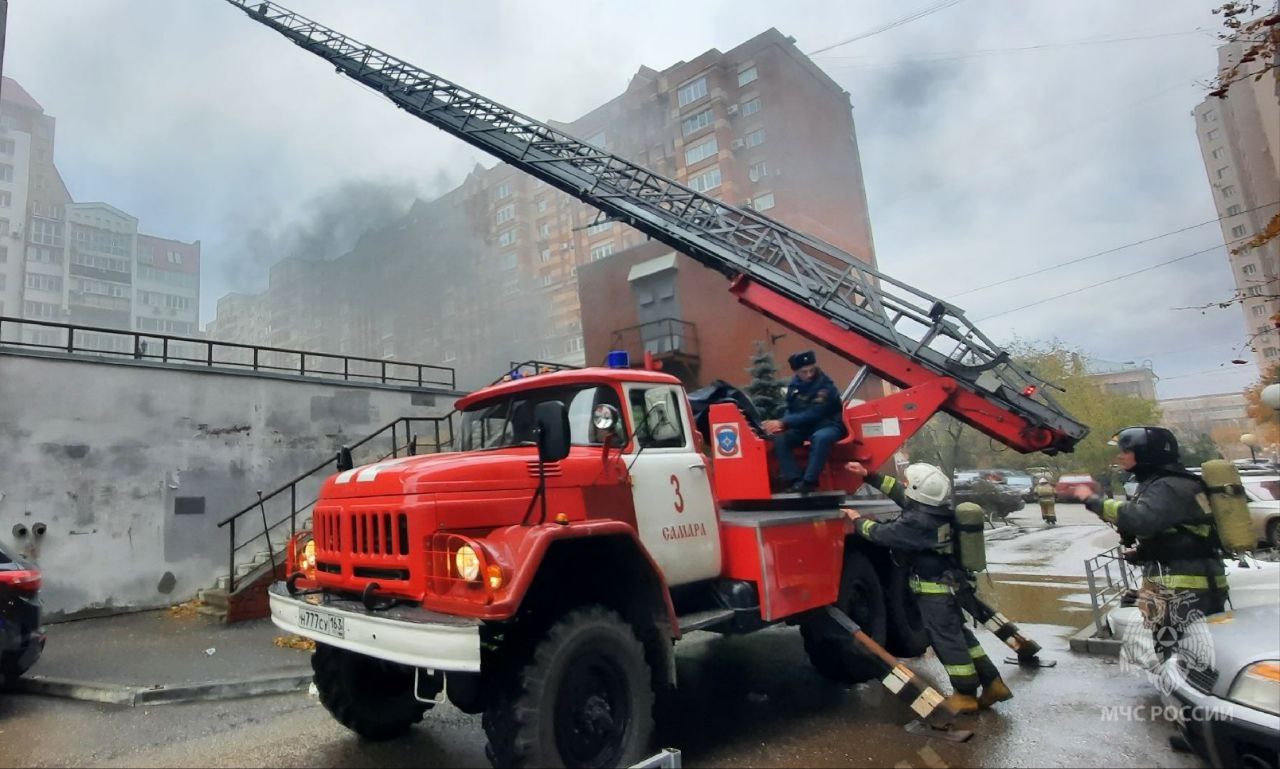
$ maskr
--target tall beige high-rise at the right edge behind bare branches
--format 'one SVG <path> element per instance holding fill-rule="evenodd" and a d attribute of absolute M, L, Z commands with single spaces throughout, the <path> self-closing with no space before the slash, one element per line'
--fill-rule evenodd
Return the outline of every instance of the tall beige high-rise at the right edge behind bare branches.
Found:
<path fill-rule="evenodd" d="M 1220 70 L 1239 64 L 1244 50 L 1242 42 L 1220 47 Z M 1280 238 L 1240 250 L 1280 214 L 1280 81 L 1274 73 L 1254 79 L 1262 65 L 1243 64 L 1247 77 L 1192 113 L 1260 372 L 1280 363 Z"/>

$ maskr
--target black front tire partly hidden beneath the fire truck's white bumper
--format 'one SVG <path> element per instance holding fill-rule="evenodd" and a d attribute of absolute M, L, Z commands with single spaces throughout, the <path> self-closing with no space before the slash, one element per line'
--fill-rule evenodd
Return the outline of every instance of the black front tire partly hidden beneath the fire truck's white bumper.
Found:
<path fill-rule="evenodd" d="M 413 668 L 316 644 L 311 655 L 320 702 L 365 740 L 401 737 L 430 708 L 413 697 Z"/>

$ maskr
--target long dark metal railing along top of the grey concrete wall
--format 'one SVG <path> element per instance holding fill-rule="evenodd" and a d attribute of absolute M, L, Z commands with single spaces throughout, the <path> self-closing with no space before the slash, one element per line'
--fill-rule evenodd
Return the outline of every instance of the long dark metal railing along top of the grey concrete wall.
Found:
<path fill-rule="evenodd" d="M 344 381 L 442 386 L 451 390 L 457 388 L 457 372 L 448 366 L 19 317 L 0 316 L 0 347 L 189 363 L 210 369 L 296 374 Z"/>

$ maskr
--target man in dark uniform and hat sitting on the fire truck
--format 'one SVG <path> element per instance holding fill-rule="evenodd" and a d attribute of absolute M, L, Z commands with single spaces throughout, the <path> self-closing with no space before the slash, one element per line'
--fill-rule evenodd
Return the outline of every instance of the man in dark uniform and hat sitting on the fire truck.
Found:
<path fill-rule="evenodd" d="M 795 372 L 787 385 L 787 411 L 781 420 L 765 420 L 762 426 L 774 436 L 773 454 L 787 491 L 806 494 L 818 488 L 818 475 L 831 456 L 832 444 L 845 436 L 842 407 L 836 383 L 818 367 L 812 349 L 795 353 L 787 362 Z M 795 449 L 806 440 L 809 463 L 801 475 Z"/>

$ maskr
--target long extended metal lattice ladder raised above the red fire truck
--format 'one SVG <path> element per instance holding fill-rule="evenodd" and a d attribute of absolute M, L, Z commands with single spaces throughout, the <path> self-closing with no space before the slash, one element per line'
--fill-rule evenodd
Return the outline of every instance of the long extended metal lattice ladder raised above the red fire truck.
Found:
<path fill-rule="evenodd" d="M 941 409 L 1019 452 L 1070 452 L 1088 429 L 959 307 L 813 235 L 708 197 L 275 3 L 227 0 L 337 72 L 732 279 L 744 305 L 901 388 L 955 388 Z"/>

